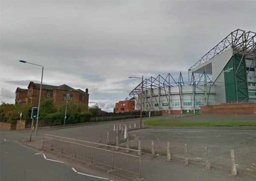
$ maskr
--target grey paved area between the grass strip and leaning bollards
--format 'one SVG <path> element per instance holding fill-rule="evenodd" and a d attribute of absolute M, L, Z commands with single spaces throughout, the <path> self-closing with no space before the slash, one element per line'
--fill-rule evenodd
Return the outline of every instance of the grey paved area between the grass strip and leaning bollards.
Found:
<path fill-rule="evenodd" d="M 256 172 L 256 130 L 255 129 L 154 129 L 146 128 L 129 132 L 141 140 L 142 150 L 151 151 L 151 140 L 160 155 L 166 155 L 170 142 L 171 155 L 184 157 L 184 144 L 188 145 L 188 157 L 202 163 L 205 146 L 210 150 L 210 162 L 218 167 L 231 167 L 230 149 L 235 150 L 237 167 Z M 138 139 L 130 140 L 131 148 L 137 148 Z M 121 144 L 120 146 L 125 146 Z"/>

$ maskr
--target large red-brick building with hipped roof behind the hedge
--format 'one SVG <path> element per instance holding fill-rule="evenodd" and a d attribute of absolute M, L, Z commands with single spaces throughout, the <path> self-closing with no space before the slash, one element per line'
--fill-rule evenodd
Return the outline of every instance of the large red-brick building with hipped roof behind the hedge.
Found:
<path fill-rule="evenodd" d="M 42 84 L 41 101 L 51 98 L 54 101 L 54 104 L 60 105 L 65 103 L 68 91 L 70 94 L 70 101 L 83 103 L 88 108 L 88 89 L 85 89 L 84 92 L 81 89 L 74 89 L 65 84 L 60 86 Z M 15 92 L 15 104 L 20 106 L 37 106 L 39 100 L 39 92 L 40 84 L 35 84 L 34 82 L 29 83 L 28 89 L 21 89 L 20 87 L 17 87 Z"/>

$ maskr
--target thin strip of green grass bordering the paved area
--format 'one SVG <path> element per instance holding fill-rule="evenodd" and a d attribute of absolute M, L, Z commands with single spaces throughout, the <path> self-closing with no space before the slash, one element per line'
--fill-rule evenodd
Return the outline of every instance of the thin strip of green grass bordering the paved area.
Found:
<path fill-rule="evenodd" d="M 160 122 L 160 121 L 146 121 L 147 125 L 155 126 L 216 126 L 216 125 L 229 125 L 229 126 L 245 126 L 256 125 L 256 122 Z"/>

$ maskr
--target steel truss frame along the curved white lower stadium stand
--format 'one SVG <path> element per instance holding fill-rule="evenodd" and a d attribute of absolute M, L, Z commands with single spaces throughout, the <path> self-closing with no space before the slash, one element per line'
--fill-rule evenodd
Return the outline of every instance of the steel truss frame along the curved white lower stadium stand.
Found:
<path fill-rule="evenodd" d="M 196 81 L 194 74 L 192 73 L 191 80 L 188 82 L 185 82 L 182 76 L 182 72 L 179 73 L 178 81 L 174 79 L 174 77 L 171 75 L 171 73 L 168 73 L 166 77 L 163 77 L 162 75 L 157 75 L 156 77 L 151 76 L 150 78 L 146 78 L 138 84 L 130 93 L 130 97 L 135 98 L 136 105 L 140 105 L 142 101 L 143 107 L 145 107 L 145 104 L 149 105 L 149 108 L 146 108 L 145 110 L 152 110 L 153 104 L 152 100 L 154 99 L 155 102 L 158 104 L 159 111 L 161 110 L 160 105 L 160 96 L 165 96 L 168 103 L 168 109 L 170 111 L 171 109 L 171 87 L 179 87 L 179 99 L 180 99 L 180 110 L 182 111 L 182 87 L 183 86 L 193 86 L 193 109 L 195 110 L 195 94 L 196 94 L 196 87 L 201 89 L 202 91 L 205 91 L 205 102 L 208 102 L 209 96 L 207 96 L 206 89 L 202 89 L 202 85 L 205 85 L 205 88 L 207 85 L 212 86 L 213 84 L 210 82 L 210 78 L 207 74 L 204 74 L 205 80 L 201 77 L 199 81 Z M 143 93 L 142 93 L 142 84 L 143 84 Z M 155 95 L 153 89 L 158 89 L 158 95 Z M 161 93 L 161 90 L 164 90 L 164 92 Z M 148 95 L 148 92 L 150 92 L 150 95 Z M 142 93 L 142 100 L 141 100 L 141 93 Z M 158 99 L 157 99 L 158 98 Z M 148 100 L 150 99 L 150 100 Z M 138 106 L 137 106 L 138 107 Z M 142 110 L 144 110 L 142 108 Z"/>

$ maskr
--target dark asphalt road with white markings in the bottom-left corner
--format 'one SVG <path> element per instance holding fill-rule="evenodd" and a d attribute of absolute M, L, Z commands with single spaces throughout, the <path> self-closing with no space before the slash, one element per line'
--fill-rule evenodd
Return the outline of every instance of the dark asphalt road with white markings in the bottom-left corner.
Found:
<path fill-rule="evenodd" d="M 20 143 L 0 140 L 0 181 L 103 181 L 87 175 L 77 174 L 72 165 L 46 160 L 38 150 L 29 148 Z M 46 157 L 49 157 L 46 154 Z M 55 158 L 47 158 L 55 159 Z M 62 160 L 57 160 L 62 161 Z M 75 168 L 83 174 L 86 170 Z M 100 176 L 100 175 L 94 175 Z"/>

